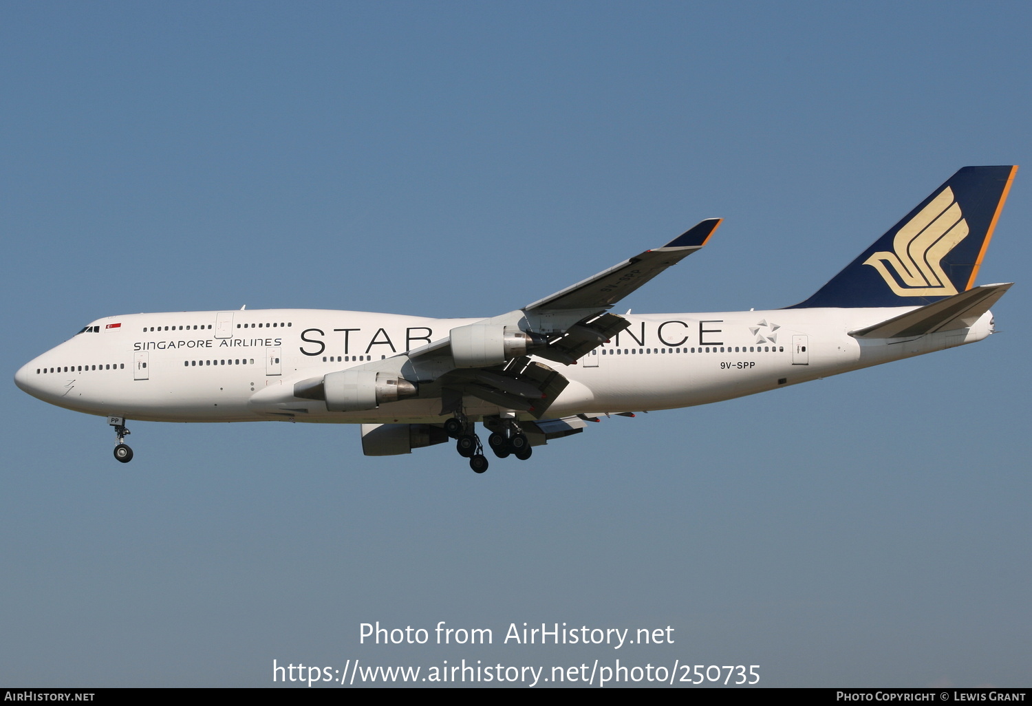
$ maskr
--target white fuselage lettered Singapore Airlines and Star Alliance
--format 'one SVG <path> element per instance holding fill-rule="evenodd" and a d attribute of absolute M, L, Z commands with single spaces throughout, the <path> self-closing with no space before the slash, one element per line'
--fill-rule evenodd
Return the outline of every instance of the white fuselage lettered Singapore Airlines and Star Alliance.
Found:
<path fill-rule="evenodd" d="M 906 340 L 849 331 L 901 309 L 781 309 L 627 315 L 630 328 L 576 364 L 548 417 L 659 410 L 730 399 L 980 341 L 969 328 Z M 60 407 L 148 421 L 440 422 L 440 398 L 328 412 L 295 383 L 401 355 L 479 319 L 328 310 L 133 314 L 99 319 L 23 366 L 19 387 Z M 472 419 L 499 413 L 463 399 Z M 521 415 L 522 416 L 522 415 Z"/>

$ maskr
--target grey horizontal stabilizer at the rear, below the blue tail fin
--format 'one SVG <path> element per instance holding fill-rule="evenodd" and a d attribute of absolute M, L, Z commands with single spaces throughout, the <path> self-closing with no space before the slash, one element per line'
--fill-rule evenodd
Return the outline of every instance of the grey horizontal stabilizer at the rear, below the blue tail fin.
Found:
<path fill-rule="evenodd" d="M 849 331 L 856 339 L 903 339 L 968 328 L 1003 296 L 1013 283 L 982 285 L 888 321 Z"/>

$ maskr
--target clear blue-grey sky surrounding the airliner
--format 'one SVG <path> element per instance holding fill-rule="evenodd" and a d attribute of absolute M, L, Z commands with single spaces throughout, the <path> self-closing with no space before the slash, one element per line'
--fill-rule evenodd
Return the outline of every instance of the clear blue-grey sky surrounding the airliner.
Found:
<path fill-rule="evenodd" d="M 1030 13 L 8 3 L 4 368 L 122 313 L 490 316 L 713 216 L 703 253 L 623 303 L 795 303 L 959 167 L 1030 163 Z M 103 419 L 9 383 L 0 683 L 619 657 L 1028 685 L 1029 179 L 978 278 L 1018 283 L 999 335 L 606 420 L 482 477 L 444 446 L 367 458 L 357 428 L 276 423 L 135 422 L 123 467 Z M 676 642 L 359 644 L 376 620 Z"/>

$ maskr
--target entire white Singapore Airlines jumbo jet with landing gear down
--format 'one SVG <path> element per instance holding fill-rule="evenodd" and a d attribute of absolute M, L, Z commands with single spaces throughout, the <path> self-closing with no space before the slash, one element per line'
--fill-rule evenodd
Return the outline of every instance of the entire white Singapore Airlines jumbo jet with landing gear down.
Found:
<path fill-rule="evenodd" d="M 131 314 L 93 321 L 24 365 L 29 394 L 126 419 L 362 425 L 366 455 L 454 439 L 477 473 L 602 416 L 690 407 L 981 341 L 1010 284 L 973 286 L 1015 166 L 964 167 L 794 307 L 608 310 L 696 252 L 719 219 L 489 319 L 324 310 Z"/>

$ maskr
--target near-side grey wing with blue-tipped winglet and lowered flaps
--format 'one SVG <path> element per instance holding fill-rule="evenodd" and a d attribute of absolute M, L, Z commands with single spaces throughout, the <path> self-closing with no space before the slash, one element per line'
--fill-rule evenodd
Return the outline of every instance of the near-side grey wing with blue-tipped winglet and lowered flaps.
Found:
<path fill-rule="evenodd" d="M 350 390 L 358 380 L 374 385 L 377 374 L 387 374 L 406 383 L 407 397 L 440 398 L 441 415 L 460 413 L 463 396 L 472 395 L 541 420 L 569 381 L 531 356 L 570 365 L 630 326 L 606 310 L 706 245 L 719 224 L 716 218 L 702 221 L 662 248 L 646 250 L 523 309 L 456 326 L 425 346 L 353 366 L 333 385 Z M 325 398 L 325 384 L 321 379 L 302 381 L 296 394 Z M 342 391 L 341 398 L 351 394 Z M 576 432 L 567 426 L 566 434 Z M 570 428 L 581 427 L 575 423 Z M 548 428 L 548 434 L 556 431 Z"/>

